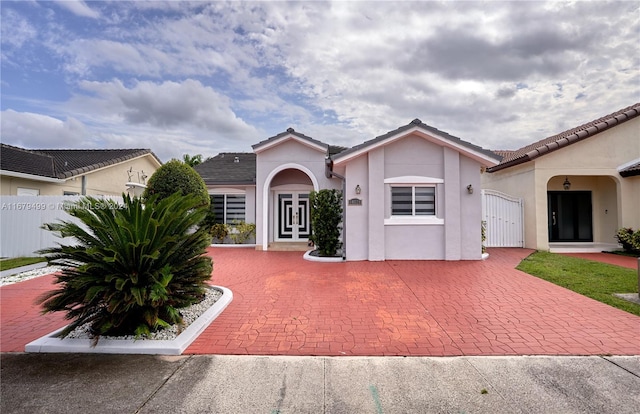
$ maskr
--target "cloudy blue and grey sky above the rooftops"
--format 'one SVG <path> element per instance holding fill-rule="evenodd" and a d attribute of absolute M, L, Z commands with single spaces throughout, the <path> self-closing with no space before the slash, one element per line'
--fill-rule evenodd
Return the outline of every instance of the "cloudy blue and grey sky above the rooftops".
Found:
<path fill-rule="evenodd" d="M 516 149 L 640 101 L 640 3 L 2 1 L 2 142 L 351 146 L 414 118 Z"/>

